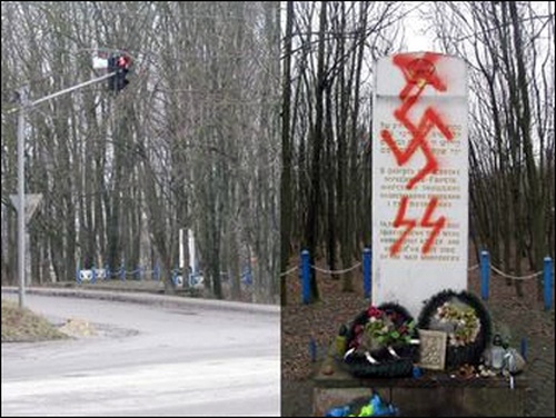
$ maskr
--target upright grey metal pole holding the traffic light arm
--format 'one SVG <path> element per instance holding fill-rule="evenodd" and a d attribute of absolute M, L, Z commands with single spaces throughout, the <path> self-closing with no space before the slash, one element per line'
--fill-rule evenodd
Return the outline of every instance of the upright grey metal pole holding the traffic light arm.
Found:
<path fill-rule="evenodd" d="M 19 91 L 21 107 L 18 115 L 18 277 L 19 307 L 24 307 L 26 298 L 26 89 Z"/>

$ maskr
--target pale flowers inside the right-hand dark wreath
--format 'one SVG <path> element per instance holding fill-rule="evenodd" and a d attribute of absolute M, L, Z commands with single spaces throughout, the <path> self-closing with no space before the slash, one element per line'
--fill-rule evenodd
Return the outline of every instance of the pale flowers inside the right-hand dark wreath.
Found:
<path fill-rule="evenodd" d="M 436 309 L 435 319 L 447 326 L 448 345 L 466 346 L 476 340 L 480 320 L 469 306 L 445 301 Z"/>

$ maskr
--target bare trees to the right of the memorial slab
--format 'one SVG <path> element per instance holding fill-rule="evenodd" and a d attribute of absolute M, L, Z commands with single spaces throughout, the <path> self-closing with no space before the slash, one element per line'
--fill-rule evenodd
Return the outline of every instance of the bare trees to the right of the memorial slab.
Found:
<path fill-rule="evenodd" d="M 548 2 L 446 2 L 435 6 L 435 23 L 445 50 L 471 69 L 476 246 L 518 276 L 524 257 L 538 270 L 554 241 L 553 8 Z M 520 282 L 515 283 L 522 295 Z"/>

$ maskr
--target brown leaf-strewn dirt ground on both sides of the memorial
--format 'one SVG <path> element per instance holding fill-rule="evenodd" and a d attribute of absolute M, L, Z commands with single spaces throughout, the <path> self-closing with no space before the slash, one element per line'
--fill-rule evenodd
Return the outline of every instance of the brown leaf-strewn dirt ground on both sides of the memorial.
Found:
<path fill-rule="evenodd" d="M 468 276 L 468 290 L 480 295 L 479 270 Z M 318 273 L 321 301 L 302 305 L 300 280 L 288 276 L 288 306 L 281 311 L 281 416 L 307 417 L 312 414 L 311 361 L 309 340 L 317 342 L 317 361 L 324 356 L 341 324 L 360 312 L 367 302 L 363 293 L 360 269 L 354 271 L 355 291 L 341 292 L 341 280 Z M 510 346 L 520 349 L 526 341 L 527 366 L 524 377 L 529 387 L 526 395 L 526 416 L 554 417 L 554 306 L 544 310 L 537 299 L 535 279 L 522 280 L 525 296 L 518 298 L 512 282 L 499 276 L 490 277 L 490 296 L 485 302 L 495 331 L 509 338 Z M 554 292 L 554 289 L 553 289 Z M 554 300 L 554 297 L 553 297 Z"/>

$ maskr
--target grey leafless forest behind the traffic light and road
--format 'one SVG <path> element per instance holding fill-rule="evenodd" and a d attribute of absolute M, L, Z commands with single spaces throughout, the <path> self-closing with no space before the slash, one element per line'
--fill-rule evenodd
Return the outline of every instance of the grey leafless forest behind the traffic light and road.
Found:
<path fill-rule="evenodd" d="M 2 283 L 17 282 L 17 104 L 102 74 L 125 52 L 129 84 L 85 87 L 27 112 L 31 283 L 76 269 L 158 266 L 172 292 L 179 230 L 195 232 L 215 298 L 279 291 L 278 2 L 2 2 Z M 106 70 L 105 70 L 106 71 Z M 226 286 L 225 286 L 226 285 Z"/>

